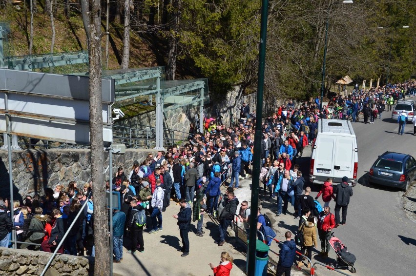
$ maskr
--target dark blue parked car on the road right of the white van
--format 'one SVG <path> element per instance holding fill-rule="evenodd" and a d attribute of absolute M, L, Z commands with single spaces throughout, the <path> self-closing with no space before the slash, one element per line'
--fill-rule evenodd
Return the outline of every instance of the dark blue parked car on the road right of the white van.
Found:
<path fill-rule="evenodd" d="M 413 156 L 387 151 L 371 167 L 369 183 L 398 187 L 406 191 L 415 177 L 416 160 Z"/>

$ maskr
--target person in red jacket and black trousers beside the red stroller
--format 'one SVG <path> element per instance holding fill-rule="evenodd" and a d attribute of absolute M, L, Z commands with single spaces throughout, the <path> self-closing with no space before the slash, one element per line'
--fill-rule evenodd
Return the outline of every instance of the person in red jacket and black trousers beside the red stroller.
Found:
<path fill-rule="evenodd" d="M 331 208 L 325 207 L 318 217 L 318 236 L 321 240 L 321 256 L 328 257 L 331 245 L 329 240 L 331 238 L 332 229 L 335 227 L 335 219 L 331 214 Z"/>

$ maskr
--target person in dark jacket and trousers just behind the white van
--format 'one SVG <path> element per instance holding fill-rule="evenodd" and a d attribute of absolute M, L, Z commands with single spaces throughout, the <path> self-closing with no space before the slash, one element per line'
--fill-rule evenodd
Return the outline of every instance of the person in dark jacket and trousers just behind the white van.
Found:
<path fill-rule="evenodd" d="M 342 177 L 342 183 L 333 186 L 333 193 L 335 196 L 335 226 L 338 227 L 339 224 L 339 211 L 342 208 L 342 221 L 341 224 L 345 225 L 347 221 L 347 210 L 348 204 L 350 204 L 350 197 L 353 196 L 353 188 L 348 184 L 348 177 Z"/>

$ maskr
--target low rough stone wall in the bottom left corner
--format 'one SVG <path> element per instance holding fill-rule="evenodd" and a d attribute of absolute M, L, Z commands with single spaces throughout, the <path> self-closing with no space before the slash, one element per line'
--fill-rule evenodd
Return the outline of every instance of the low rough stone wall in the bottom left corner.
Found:
<path fill-rule="evenodd" d="M 0 247 L 0 275 L 41 275 L 52 253 Z M 87 276 L 88 260 L 84 257 L 57 255 L 46 276 Z"/>

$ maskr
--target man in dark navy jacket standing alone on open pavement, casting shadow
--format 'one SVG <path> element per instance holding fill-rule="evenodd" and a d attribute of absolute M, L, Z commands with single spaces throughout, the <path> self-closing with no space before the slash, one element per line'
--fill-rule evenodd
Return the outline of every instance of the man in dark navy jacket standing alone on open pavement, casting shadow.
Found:
<path fill-rule="evenodd" d="M 179 233 L 181 234 L 182 239 L 182 248 L 178 249 L 178 251 L 182 251 L 181 257 L 185 257 L 189 255 L 189 224 L 191 221 L 192 216 L 192 209 L 188 202 L 185 201 L 185 198 L 179 199 L 179 205 L 181 206 L 181 210 L 179 211 L 178 215 L 173 215 L 173 218 L 178 220 L 179 226 Z"/>

